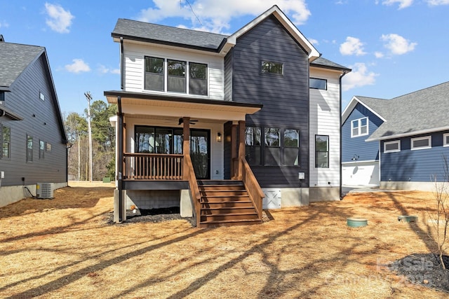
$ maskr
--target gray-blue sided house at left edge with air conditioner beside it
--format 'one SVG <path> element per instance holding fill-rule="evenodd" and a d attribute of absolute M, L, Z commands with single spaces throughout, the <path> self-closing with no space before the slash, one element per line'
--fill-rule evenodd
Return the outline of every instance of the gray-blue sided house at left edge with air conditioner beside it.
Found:
<path fill-rule="evenodd" d="M 3 207 L 36 195 L 36 183 L 67 186 L 67 137 L 45 48 L 1 38 L 0 65 Z"/>

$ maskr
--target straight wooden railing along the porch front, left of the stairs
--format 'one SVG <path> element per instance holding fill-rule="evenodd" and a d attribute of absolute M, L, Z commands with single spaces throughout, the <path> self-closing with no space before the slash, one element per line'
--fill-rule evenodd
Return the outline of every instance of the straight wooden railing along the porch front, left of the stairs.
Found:
<path fill-rule="evenodd" d="M 123 179 L 184 179 L 184 155 L 124 153 L 123 160 Z"/>

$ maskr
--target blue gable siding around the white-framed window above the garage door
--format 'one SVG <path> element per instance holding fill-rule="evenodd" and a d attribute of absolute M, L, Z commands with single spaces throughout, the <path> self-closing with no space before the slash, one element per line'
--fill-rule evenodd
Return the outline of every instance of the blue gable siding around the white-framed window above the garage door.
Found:
<path fill-rule="evenodd" d="M 351 138 L 351 121 L 368 117 L 368 135 Z M 361 104 L 356 104 L 354 110 L 342 125 L 342 162 L 352 162 L 351 158 L 358 155 L 358 161 L 379 160 L 379 142 L 366 142 L 371 134 L 382 125 L 383 121 Z"/>

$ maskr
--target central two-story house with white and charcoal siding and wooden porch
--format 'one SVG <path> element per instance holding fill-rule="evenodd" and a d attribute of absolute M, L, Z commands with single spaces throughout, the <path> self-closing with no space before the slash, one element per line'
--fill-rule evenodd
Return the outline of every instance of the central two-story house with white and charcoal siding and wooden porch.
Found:
<path fill-rule="evenodd" d="M 265 208 L 340 200 L 350 69 L 322 58 L 277 6 L 231 36 L 119 19 L 112 37 L 115 221 L 130 208 L 180 206 L 199 226 L 231 225 L 253 212 L 260 222 L 262 197 Z"/>

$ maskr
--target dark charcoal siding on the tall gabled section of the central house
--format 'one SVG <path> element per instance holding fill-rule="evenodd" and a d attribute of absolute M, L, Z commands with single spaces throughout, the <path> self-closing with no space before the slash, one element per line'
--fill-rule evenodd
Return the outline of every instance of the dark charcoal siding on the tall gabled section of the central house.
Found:
<path fill-rule="evenodd" d="M 247 116 L 247 125 L 300 130 L 300 167 L 252 166 L 257 180 L 262 187 L 299 186 L 297 173 L 309 173 L 307 53 L 270 16 L 237 39 L 232 59 L 232 100 L 264 105 L 261 111 Z M 262 60 L 283 63 L 283 76 L 261 74 Z M 308 181 L 302 184 L 306 185 Z"/>

